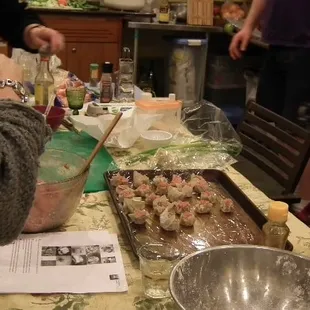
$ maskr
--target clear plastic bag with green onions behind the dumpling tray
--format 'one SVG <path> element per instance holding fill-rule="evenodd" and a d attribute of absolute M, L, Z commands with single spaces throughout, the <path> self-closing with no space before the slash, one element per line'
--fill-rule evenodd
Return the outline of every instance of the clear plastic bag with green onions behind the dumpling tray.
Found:
<path fill-rule="evenodd" d="M 183 124 L 168 146 L 123 157 L 118 165 L 123 169 L 224 169 L 241 150 L 239 136 L 223 111 L 202 101 L 183 110 Z"/>

